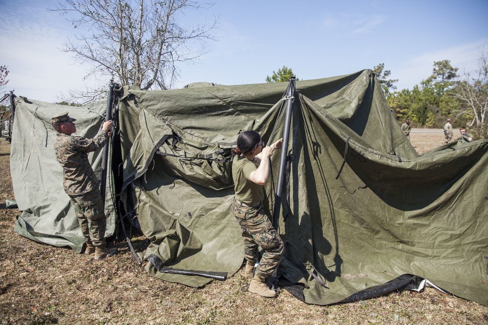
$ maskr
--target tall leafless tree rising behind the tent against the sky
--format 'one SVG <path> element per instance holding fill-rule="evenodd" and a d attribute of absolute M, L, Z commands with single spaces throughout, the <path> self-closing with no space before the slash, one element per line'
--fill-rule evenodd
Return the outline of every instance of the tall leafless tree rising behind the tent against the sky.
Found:
<path fill-rule="evenodd" d="M 90 63 L 88 77 L 141 89 L 170 89 L 179 77 L 178 62 L 195 61 L 206 40 L 214 39 L 213 22 L 193 27 L 178 18 L 189 10 L 211 7 L 189 0 L 65 0 L 56 9 L 74 28 L 85 32 L 64 44 L 77 61 Z M 71 91 L 73 98 L 95 100 L 104 90 Z"/>

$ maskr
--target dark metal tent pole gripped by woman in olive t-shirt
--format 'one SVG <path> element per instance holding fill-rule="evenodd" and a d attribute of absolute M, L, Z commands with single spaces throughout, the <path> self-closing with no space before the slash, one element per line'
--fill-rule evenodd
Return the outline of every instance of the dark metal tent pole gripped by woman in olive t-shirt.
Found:
<path fill-rule="evenodd" d="M 291 113 L 293 111 L 293 100 L 295 99 L 295 77 L 292 76 L 286 94 L 285 129 L 283 130 L 283 145 L 281 148 L 280 169 L 278 170 L 278 181 L 276 184 L 275 203 L 273 209 L 273 226 L 278 230 L 279 215 L 281 208 L 281 196 L 285 186 L 286 163 L 288 160 L 288 140 L 290 138 Z"/>

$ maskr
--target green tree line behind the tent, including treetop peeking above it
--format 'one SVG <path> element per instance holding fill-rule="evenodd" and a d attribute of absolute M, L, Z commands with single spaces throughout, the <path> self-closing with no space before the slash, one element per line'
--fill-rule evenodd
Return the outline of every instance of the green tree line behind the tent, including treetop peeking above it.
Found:
<path fill-rule="evenodd" d="M 466 126 L 475 138 L 488 132 L 488 54 L 480 49 L 478 69 L 458 74 L 449 60 L 435 61 L 432 74 L 410 89 L 396 90 L 398 79 L 390 79 L 385 64 L 373 67 L 388 106 L 399 123 L 407 118 L 416 128 L 442 128 L 447 118 L 452 124 Z M 286 66 L 273 71 L 266 82 L 287 81 L 295 76 Z M 298 79 L 297 79 L 298 80 Z"/>

